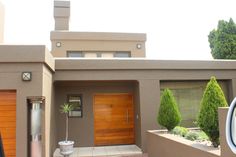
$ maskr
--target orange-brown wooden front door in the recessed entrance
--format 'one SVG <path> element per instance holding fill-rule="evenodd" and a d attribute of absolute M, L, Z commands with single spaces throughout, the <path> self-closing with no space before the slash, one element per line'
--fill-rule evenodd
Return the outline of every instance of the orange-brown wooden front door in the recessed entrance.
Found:
<path fill-rule="evenodd" d="M 96 94 L 93 109 L 96 146 L 134 143 L 132 94 Z"/>

